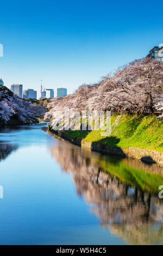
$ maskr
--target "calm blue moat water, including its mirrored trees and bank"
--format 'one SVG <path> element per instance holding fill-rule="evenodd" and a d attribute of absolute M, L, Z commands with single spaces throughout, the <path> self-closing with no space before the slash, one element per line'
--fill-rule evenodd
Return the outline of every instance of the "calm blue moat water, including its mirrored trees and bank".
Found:
<path fill-rule="evenodd" d="M 163 168 L 82 150 L 45 123 L 1 128 L 0 185 L 1 245 L 163 244 Z"/>

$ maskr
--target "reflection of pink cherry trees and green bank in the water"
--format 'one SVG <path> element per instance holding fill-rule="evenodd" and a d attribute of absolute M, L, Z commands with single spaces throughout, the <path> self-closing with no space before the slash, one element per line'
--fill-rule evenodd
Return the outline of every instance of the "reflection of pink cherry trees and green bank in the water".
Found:
<path fill-rule="evenodd" d="M 77 194 L 85 197 L 102 227 L 129 244 L 163 243 L 163 168 L 139 160 L 102 156 L 61 142 L 51 154 L 72 173 Z"/>

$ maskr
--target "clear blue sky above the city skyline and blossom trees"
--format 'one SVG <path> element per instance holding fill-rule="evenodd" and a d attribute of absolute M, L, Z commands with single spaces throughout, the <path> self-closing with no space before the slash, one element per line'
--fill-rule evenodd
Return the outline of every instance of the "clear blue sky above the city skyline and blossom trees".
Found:
<path fill-rule="evenodd" d="M 3 1 L 0 78 L 72 93 L 163 43 L 162 10 L 150 0 Z"/>

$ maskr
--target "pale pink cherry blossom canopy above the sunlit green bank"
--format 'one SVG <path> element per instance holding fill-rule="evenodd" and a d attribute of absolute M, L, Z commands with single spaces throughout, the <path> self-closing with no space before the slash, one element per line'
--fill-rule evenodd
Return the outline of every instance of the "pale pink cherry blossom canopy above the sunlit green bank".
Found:
<path fill-rule="evenodd" d="M 113 75 L 102 77 L 96 84 L 83 84 L 71 95 L 52 99 L 45 119 L 52 120 L 52 126 L 55 125 L 65 107 L 70 109 L 72 117 L 74 111 L 152 113 L 162 95 L 162 85 L 160 63 L 150 58 L 137 59 Z"/>

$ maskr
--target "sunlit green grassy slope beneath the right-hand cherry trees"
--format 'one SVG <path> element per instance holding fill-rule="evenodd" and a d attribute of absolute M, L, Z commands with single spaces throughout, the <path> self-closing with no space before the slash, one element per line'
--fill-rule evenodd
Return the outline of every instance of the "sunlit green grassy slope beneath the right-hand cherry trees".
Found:
<path fill-rule="evenodd" d="M 155 115 L 137 116 L 112 114 L 112 131 L 102 137 L 101 130 L 63 131 L 71 138 L 112 145 L 120 148 L 136 147 L 163 152 L 163 124 Z"/>

